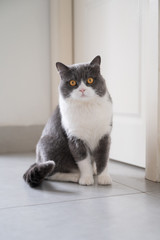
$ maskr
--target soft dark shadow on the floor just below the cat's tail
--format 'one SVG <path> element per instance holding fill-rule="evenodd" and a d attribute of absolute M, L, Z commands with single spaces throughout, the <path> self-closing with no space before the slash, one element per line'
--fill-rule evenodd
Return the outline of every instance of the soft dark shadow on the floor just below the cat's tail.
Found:
<path fill-rule="evenodd" d="M 39 187 L 36 188 L 36 190 L 38 191 L 45 191 L 45 192 L 52 192 L 52 193 L 58 193 L 58 194 L 71 194 L 71 195 L 75 195 L 77 193 L 77 191 L 72 191 L 72 190 L 66 190 L 66 188 L 62 188 L 62 186 L 60 186 L 60 184 L 58 184 L 58 186 L 60 186 L 60 188 L 58 188 L 57 182 L 50 182 L 50 181 L 44 181 Z M 65 184 L 65 183 L 61 183 L 61 184 Z M 75 183 L 71 183 L 74 184 Z"/>

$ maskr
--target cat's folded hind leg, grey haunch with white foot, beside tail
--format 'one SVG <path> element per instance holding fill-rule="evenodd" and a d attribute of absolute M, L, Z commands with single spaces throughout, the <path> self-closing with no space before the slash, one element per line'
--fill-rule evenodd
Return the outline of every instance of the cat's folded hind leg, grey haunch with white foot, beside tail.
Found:
<path fill-rule="evenodd" d="M 55 168 L 45 179 L 78 182 L 80 174 L 68 148 L 68 141 L 65 141 L 64 138 L 55 139 L 54 136 L 46 135 L 40 140 L 37 147 L 40 162 L 48 162 L 50 161 L 49 159 L 52 159 L 55 163 Z"/>

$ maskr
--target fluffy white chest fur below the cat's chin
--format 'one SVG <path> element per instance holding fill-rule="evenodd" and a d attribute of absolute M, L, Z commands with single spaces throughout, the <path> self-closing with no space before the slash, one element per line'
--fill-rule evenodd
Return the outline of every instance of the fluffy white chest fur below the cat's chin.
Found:
<path fill-rule="evenodd" d="M 67 135 L 83 140 L 91 150 L 95 149 L 105 134 L 110 134 L 112 103 L 107 95 L 90 102 L 63 99 L 60 96 L 59 105 Z"/>

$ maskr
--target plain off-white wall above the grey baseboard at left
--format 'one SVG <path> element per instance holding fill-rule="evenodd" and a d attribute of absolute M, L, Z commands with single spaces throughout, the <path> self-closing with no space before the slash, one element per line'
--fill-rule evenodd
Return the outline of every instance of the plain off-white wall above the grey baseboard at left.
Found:
<path fill-rule="evenodd" d="M 48 0 L 0 1 L 0 126 L 50 115 Z"/>

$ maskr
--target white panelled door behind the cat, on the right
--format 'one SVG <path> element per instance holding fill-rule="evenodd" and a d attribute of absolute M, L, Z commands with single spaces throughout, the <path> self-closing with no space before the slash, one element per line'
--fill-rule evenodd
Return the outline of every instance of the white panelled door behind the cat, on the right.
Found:
<path fill-rule="evenodd" d="M 145 167 L 145 0 L 74 0 L 74 62 L 102 57 L 114 104 L 110 157 Z"/>

